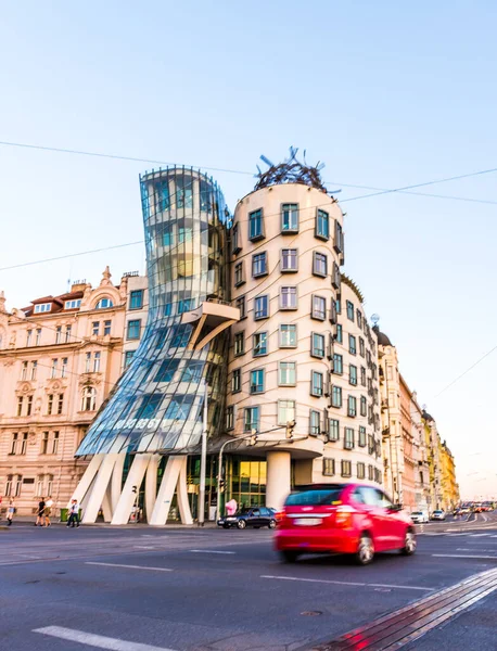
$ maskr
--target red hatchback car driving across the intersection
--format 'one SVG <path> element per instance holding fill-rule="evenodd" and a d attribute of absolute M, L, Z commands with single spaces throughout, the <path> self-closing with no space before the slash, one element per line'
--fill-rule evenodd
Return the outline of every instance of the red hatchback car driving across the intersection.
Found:
<path fill-rule="evenodd" d="M 411 519 L 374 486 L 313 484 L 289 495 L 276 549 L 293 563 L 303 553 L 349 553 L 366 565 L 377 551 L 416 551 Z"/>

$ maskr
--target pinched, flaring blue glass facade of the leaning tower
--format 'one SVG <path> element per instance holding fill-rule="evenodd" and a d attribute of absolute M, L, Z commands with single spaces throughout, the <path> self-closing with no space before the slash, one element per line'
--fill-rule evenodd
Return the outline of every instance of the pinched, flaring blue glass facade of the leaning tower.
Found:
<path fill-rule="evenodd" d="M 192 451 L 202 433 L 208 385 L 208 436 L 222 422 L 228 336 L 188 349 L 204 302 L 229 299 L 227 209 L 205 175 L 174 167 L 140 178 L 149 317 L 132 361 L 82 441 L 77 456 Z"/>

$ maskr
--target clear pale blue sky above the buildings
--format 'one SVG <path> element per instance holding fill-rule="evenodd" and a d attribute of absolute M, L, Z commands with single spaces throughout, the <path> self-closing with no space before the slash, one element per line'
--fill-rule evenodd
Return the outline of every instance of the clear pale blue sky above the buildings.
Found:
<path fill-rule="evenodd" d="M 346 268 L 436 419 L 464 497 L 497 496 L 497 204 L 367 193 L 497 167 L 497 5 L 2 4 L 0 140 L 254 173 L 290 145 L 342 188 Z M 0 145 L 0 267 L 142 239 L 151 164 Z M 231 208 L 250 174 L 213 173 Z M 497 174 L 420 191 L 497 202 Z M 0 272 L 8 307 L 144 269 L 141 245 Z"/>

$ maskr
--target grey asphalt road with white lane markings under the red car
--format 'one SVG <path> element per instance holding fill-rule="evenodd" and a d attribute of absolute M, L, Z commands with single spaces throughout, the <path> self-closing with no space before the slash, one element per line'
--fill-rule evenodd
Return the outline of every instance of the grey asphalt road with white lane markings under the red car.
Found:
<path fill-rule="evenodd" d="M 284 565 L 271 537 L 14 523 L 0 531 L 0 649 L 311 649 L 497 569 L 494 514 L 419 527 L 415 557 L 367 567 L 341 557 Z M 404 648 L 497 649 L 497 591 L 487 592 Z"/>

